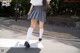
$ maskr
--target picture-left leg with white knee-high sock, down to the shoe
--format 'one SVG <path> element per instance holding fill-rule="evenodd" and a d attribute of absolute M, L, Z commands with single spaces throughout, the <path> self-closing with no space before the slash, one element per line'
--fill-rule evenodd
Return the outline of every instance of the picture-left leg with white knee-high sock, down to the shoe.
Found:
<path fill-rule="evenodd" d="M 31 36 L 32 36 L 32 32 L 35 29 L 37 24 L 37 20 L 36 19 L 31 19 L 31 26 L 28 28 L 27 31 L 27 37 L 26 37 L 26 41 L 29 42 Z"/>

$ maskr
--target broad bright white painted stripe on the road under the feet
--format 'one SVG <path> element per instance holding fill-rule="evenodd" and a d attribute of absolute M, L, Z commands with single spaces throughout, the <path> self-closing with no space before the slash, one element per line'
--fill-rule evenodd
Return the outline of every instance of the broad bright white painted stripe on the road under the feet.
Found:
<path fill-rule="evenodd" d="M 21 39 L 4 39 L 0 38 L 0 47 L 25 47 L 24 43 L 26 40 Z M 30 40 L 29 41 L 31 48 L 43 48 L 43 45 L 41 42 L 38 42 L 37 40 Z"/>

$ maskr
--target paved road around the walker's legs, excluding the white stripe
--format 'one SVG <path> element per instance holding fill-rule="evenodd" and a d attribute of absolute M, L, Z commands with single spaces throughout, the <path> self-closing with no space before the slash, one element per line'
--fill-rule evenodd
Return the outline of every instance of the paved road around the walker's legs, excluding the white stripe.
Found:
<path fill-rule="evenodd" d="M 26 37 L 29 25 L 28 21 L 19 20 L 15 22 L 11 19 L 0 18 L 0 38 L 23 40 Z M 47 24 L 45 29 L 43 41 L 41 42 L 44 48 L 0 47 L 0 53 L 80 53 L 80 39 L 78 37 L 80 30 Z M 33 33 L 32 40 L 38 40 L 37 31 L 38 27 Z"/>

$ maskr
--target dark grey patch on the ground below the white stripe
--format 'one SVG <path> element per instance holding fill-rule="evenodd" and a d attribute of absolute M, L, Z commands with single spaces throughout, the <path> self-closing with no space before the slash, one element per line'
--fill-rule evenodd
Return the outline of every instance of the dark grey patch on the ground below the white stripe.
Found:
<path fill-rule="evenodd" d="M 40 53 L 39 48 L 10 48 L 6 53 Z"/>

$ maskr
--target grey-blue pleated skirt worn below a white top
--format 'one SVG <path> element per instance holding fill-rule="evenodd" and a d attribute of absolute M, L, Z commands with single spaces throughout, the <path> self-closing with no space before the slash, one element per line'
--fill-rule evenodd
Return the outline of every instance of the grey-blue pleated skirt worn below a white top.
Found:
<path fill-rule="evenodd" d="M 32 18 L 46 22 L 46 12 L 43 10 L 42 6 L 33 6 L 31 13 L 28 15 L 28 19 Z"/>

